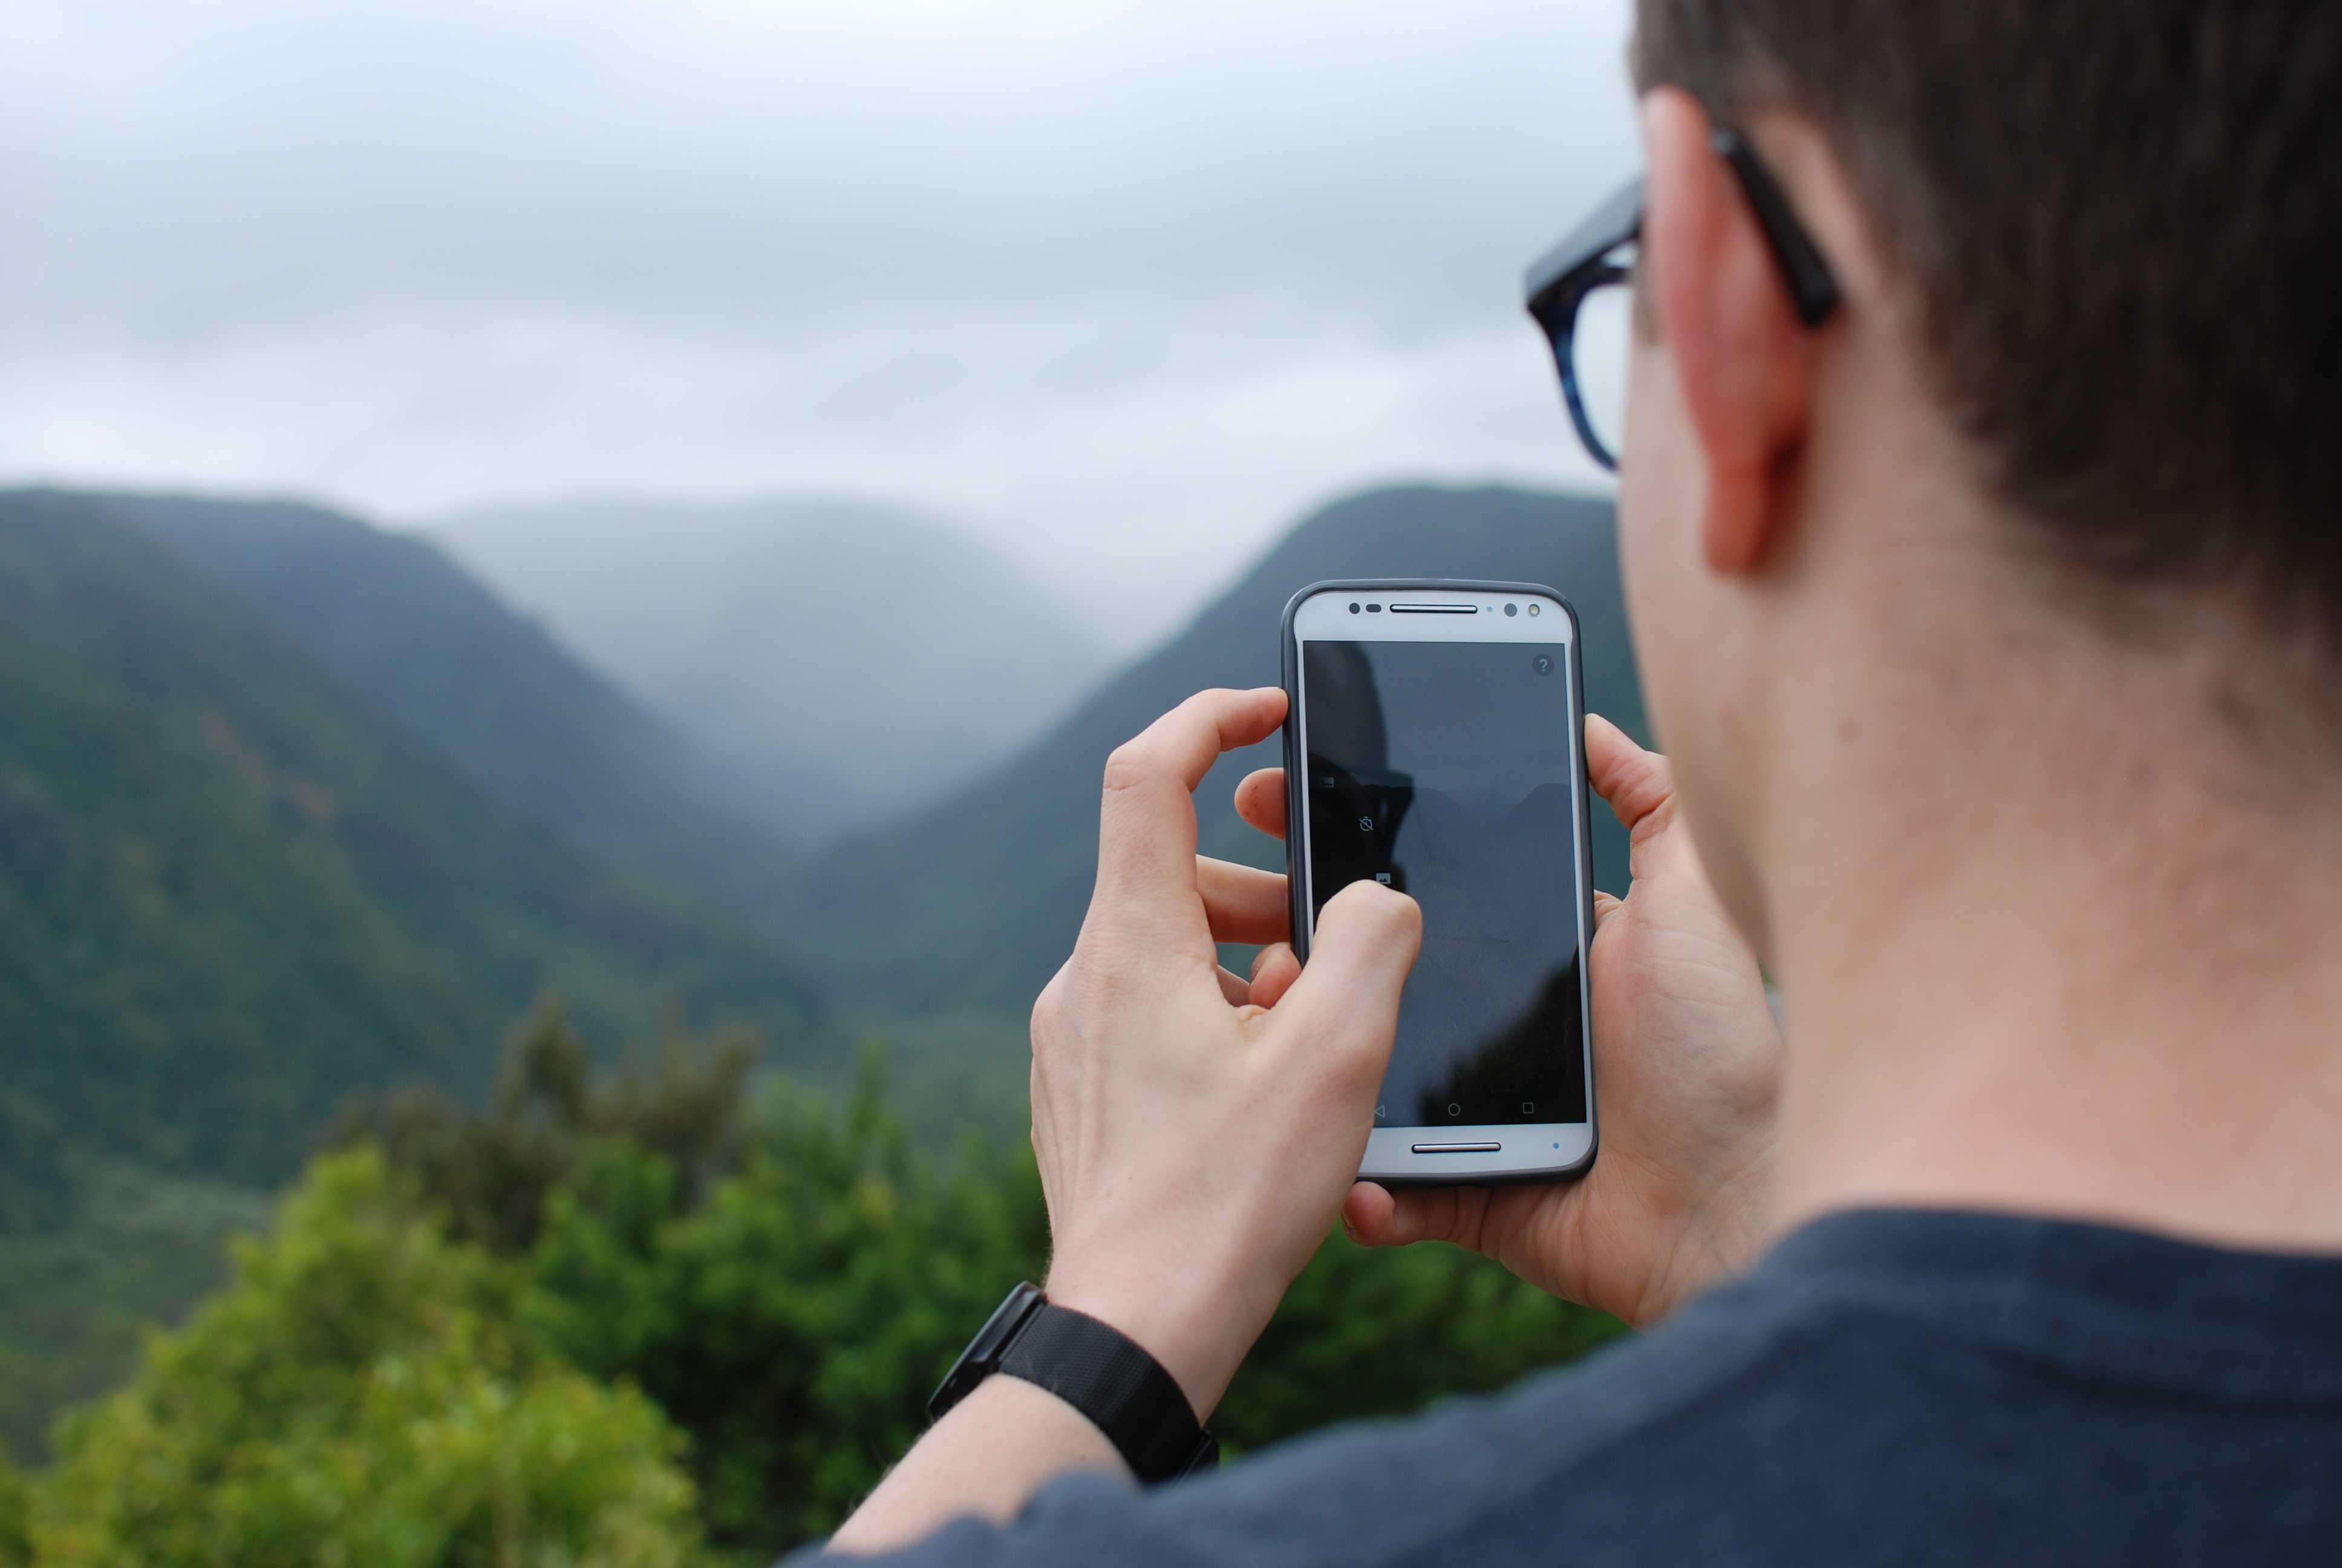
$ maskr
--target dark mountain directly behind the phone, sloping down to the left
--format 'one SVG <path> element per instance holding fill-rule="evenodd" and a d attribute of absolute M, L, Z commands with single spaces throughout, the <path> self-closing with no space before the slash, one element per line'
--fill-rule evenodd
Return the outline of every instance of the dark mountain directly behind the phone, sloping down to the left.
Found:
<path fill-rule="evenodd" d="M 918 816 L 834 846 L 808 893 L 824 973 L 843 998 L 906 1015 L 1023 1013 L 1063 963 L 1096 872 L 1105 755 L 1204 687 L 1279 680 L 1279 616 L 1330 577 L 1480 577 L 1560 588 L 1583 623 L 1588 703 L 1644 734 L 1625 633 L 1611 506 L 1536 490 L 1396 488 L 1300 523 L 1185 633 L 1091 694 L 1007 764 Z M 1223 759 L 1197 792 L 1206 853 L 1283 865 L 1244 827 L 1237 778 L 1279 762 L 1276 743 Z M 1595 811 L 1600 886 L 1625 884 L 1625 837 Z"/>

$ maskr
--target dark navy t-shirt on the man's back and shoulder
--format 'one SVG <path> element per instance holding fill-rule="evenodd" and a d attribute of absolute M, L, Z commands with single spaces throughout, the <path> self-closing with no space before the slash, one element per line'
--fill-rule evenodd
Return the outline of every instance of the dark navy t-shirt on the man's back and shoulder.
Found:
<path fill-rule="evenodd" d="M 2342 1259 L 1834 1214 L 1497 1399 L 881 1561 L 2342 1563 Z"/>

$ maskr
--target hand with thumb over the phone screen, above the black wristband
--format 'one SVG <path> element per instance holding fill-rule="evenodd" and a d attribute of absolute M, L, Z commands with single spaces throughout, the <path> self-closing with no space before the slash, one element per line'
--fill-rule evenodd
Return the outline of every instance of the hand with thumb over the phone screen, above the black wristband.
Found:
<path fill-rule="evenodd" d="M 1274 1010 L 1215 942 L 1286 933 L 1283 877 L 1197 860 L 1194 788 L 1286 694 L 1204 691 L 1105 764 L 1098 886 L 1033 1008 L 1049 1298 L 1145 1345 L 1208 1416 L 1349 1193 L 1415 966 L 1415 902 L 1319 914 Z"/>

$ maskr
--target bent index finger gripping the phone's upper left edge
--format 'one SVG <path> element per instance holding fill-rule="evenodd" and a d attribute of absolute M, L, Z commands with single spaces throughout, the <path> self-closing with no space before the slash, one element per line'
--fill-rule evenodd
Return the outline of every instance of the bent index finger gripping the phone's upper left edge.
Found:
<path fill-rule="evenodd" d="M 1108 916 L 1187 916 L 1197 905 L 1194 788 L 1220 752 L 1269 738 L 1286 694 L 1197 691 L 1105 759 L 1098 806 L 1098 891 Z"/>

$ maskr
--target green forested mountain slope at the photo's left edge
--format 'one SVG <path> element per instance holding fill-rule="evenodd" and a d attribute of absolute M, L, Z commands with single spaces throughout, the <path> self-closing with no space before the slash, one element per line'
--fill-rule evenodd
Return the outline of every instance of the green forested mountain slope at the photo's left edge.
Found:
<path fill-rule="evenodd" d="M 546 989 L 815 1038 L 771 947 L 588 860 L 101 497 L 0 492 L 0 1228 L 75 1158 L 267 1184 L 344 1095 L 478 1090 Z"/>

